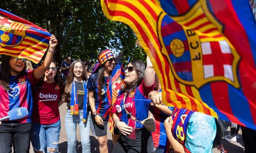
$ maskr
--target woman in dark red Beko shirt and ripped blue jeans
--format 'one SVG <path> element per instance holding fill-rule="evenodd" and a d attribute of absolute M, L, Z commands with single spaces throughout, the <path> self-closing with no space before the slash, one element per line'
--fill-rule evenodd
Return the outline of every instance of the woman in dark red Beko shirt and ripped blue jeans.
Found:
<path fill-rule="evenodd" d="M 31 142 L 36 153 L 58 151 L 62 89 L 61 74 L 52 62 L 33 90 Z"/>

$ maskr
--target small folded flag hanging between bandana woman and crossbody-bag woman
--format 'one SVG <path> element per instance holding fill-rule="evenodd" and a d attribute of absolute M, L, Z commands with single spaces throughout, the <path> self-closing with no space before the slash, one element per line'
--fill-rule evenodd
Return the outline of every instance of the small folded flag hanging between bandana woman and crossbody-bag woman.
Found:
<path fill-rule="evenodd" d="M 125 78 L 125 71 L 120 60 L 116 67 L 112 70 L 109 85 L 107 87 L 107 98 L 109 99 L 109 131 L 114 134 L 114 121 L 112 116 L 112 106 L 116 102 L 116 98 L 121 92 L 121 88 L 124 85 L 123 79 Z"/>

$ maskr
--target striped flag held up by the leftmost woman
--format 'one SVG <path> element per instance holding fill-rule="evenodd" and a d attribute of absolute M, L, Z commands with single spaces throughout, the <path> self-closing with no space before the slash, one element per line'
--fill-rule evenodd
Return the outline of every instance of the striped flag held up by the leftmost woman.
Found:
<path fill-rule="evenodd" d="M 49 46 L 51 34 L 0 8 L 0 54 L 38 63 Z"/>

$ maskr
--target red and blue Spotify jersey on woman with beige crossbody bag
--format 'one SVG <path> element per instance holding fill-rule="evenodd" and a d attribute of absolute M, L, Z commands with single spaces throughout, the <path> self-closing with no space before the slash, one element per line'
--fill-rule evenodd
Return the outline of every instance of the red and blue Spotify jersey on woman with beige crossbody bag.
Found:
<path fill-rule="evenodd" d="M 144 101 L 133 101 L 132 99 L 147 99 L 149 92 L 154 90 L 154 85 L 147 87 L 144 80 L 142 83 L 135 89 L 135 91 L 127 93 L 125 100 L 125 109 L 131 113 L 132 116 L 135 116 L 139 121 L 143 121 L 148 117 L 150 102 Z M 138 122 L 133 121 L 127 117 L 127 114 L 124 110 L 124 95 L 121 95 L 117 98 L 117 101 L 114 104 L 112 113 L 117 113 L 119 119 L 125 122 L 128 126 L 133 128 L 143 128 L 144 126 Z"/>

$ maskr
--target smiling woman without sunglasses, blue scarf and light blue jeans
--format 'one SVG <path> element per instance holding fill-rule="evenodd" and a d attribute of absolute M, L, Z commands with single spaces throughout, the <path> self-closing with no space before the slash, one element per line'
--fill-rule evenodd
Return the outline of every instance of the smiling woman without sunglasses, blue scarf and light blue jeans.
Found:
<path fill-rule="evenodd" d="M 64 102 L 67 102 L 65 127 L 67 153 L 76 153 L 76 126 L 81 134 L 82 152 L 90 153 L 90 117 L 87 111 L 87 73 L 81 60 L 71 63 L 64 88 Z"/>

